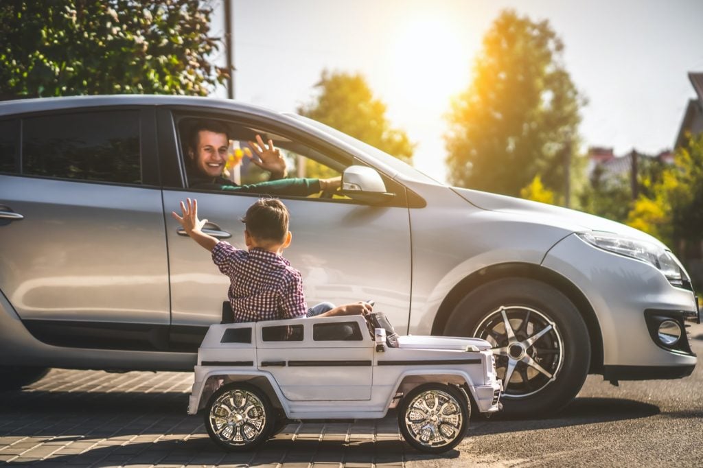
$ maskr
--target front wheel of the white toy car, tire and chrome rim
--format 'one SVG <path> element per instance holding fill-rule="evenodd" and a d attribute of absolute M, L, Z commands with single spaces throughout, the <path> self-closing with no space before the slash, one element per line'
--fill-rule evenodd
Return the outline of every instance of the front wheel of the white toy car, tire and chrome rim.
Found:
<path fill-rule="evenodd" d="M 401 401 L 398 426 L 413 448 L 441 453 L 463 440 L 469 416 L 466 397 L 458 389 L 446 384 L 423 384 Z"/>

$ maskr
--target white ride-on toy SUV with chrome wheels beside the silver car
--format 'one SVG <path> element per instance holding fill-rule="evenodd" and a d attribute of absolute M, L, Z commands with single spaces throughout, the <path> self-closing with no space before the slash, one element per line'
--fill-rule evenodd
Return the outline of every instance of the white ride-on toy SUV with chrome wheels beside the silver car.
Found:
<path fill-rule="evenodd" d="M 212 325 L 188 414 L 205 410 L 213 441 L 249 450 L 288 420 L 381 418 L 397 406 L 406 441 L 440 453 L 463 439 L 470 402 L 492 413 L 500 396 L 488 342 L 399 337 L 371 313 Z"/>

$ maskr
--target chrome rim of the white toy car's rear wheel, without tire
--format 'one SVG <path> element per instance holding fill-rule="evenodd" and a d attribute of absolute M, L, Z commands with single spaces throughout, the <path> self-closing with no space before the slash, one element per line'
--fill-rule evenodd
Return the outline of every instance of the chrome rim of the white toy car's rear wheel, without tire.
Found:
<path fill-rule="evenodd" d="M 212 403 L 209 424 L 212 433 L 228 446 L 245 447 L 255 443 L 266 428 L 264 402 L 252 392 L 226 391 Z"/>

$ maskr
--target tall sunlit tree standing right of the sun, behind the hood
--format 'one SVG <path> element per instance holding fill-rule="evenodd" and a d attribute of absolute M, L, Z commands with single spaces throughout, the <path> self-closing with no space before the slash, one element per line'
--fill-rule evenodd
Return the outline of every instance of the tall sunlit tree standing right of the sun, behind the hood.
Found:
<path fill-rule="evenodd" d="M 452 103 L 445 136 L 449 181 L 519 195 L 536 175 L 564 195 L 565 164 L 579 158 L 579 95 L 547 20 L 503 11 L 486 33 L 473 82 Z"/>

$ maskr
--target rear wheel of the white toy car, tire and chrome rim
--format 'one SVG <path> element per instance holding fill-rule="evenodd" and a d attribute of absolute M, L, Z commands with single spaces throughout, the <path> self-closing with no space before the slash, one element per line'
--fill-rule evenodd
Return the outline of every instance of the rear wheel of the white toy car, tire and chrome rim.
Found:
<path fill-rule="evenodd" d="M 269 398 L 249 384 L 223 386 L 205 408 L 207 434 L 227 450 L 251 450 L 264 443 L 275 418 Z"/>

